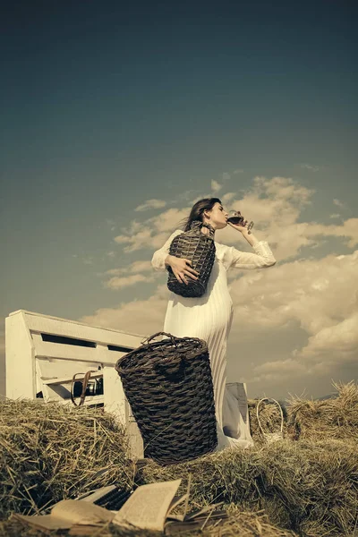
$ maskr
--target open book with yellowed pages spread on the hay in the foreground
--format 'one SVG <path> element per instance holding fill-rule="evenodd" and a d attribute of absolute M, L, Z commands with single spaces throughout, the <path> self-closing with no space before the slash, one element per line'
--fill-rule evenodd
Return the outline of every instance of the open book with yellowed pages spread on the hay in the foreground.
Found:
<path fill-rule="evenodd" d="M 178 529 L 197 527 L 208 518 L 224 518 L 226 512 L 215 506 L 204 507 L 187 514 L 189 490 L 182 496 L 176 496 L 182 480 L 150 483 L 134 490 L 119 511 L 109 511 L 83 499 L 64 499 L 55 504 L 50 515 L 24 516 L 13 515 L 22 523 L 45 530 L 71 529 L 71 534 L 84 534 L 91 526 L 117 524 L 135 526 L 172 534 Z M 174 515 L 175 507 L 183 504 L 183 513 Z"/>

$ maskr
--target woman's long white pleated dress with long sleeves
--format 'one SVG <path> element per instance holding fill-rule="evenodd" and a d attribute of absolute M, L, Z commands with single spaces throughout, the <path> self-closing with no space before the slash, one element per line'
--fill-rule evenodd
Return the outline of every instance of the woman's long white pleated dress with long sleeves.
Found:
<path fill-rule="evenodd" d="M 166 269 L 165 260 L 170 244 L 181 233 L 183 230 L 175 230 L 164 246 L 154 253 L 152 265 L 156 270 Z M 234 405 L 233 401 L 227 399 L 232 395 L 226 390 L 226 342 L 234 313 L 226 272 L 229 268 L 270 267 L 276 260 L 268 243 L 263 241 L 253 246 L 254 253 L 217 242 L 215 246 L 215 261 L 206 293 L 200 298 L 185 298 L 171 293 L 164 331 L 176 337 L 200 337 L 208 344 L 217 417 L 217 450 L 221 450 L 226 447 L 250 447 L 253 444 L 250 434 L 240 435 L 239 423 L 223 422 L 223 406 L 228 409 Z M 226 436 L 223 429 L 227 430 L 227 425 L 229 430 L 239 430 L 236 438 Z"/>

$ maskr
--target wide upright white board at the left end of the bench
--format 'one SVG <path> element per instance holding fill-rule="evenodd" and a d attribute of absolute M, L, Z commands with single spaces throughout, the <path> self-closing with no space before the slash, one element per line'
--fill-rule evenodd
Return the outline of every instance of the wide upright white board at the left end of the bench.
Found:
<path fill-rule="evenodd" d="M 6 396 L 36 397 L 34 344 L 22 314 L 5 319 Z"/>

